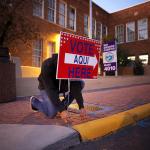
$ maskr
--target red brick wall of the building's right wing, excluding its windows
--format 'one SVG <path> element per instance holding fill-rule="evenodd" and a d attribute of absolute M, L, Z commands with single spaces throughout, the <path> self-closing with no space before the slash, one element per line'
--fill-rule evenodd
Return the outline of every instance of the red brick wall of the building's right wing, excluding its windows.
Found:
<path fill-rule="evenodd" d="M 124 25 L 124 40 L 123 44 L 119 44 L 122 50 L 125 50 L 128 55 L 139 56 L 141 54 L 148 54 L 150 57 L 150 2 L 146 2 L 128 9 L 124 9 L 109 16 L 109 31 L 110 35 L 115 35 L 115 26 Z M 137 21 L 139 19 L 148 18 L 148 39 L 138 40 Z M 135 22 L 135 41 L 126 42 L 126 23 Z M 150 59 L 149 59 L 150 64 Z"/>

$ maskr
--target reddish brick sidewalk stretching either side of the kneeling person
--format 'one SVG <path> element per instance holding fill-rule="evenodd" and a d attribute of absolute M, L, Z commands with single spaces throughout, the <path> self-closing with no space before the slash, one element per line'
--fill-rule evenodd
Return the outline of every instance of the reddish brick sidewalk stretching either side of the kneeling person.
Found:
<path fill-rule="evenodd" d="M 69 124 L 65 124 L 60 116 L 50 119 L 41 112 L 33 112 L 29 97 L 26 97 L 0 104 L 0 124 L 72 126 L 150 103 L 149 76 L 99 77 L 97 80 L 86 80 L 85 83 L 85 105 L 100 108 L 96 112 L 87 110 L 85 120 L 81 120 L 78 111 L 72 109 L 69 112 Z"/>

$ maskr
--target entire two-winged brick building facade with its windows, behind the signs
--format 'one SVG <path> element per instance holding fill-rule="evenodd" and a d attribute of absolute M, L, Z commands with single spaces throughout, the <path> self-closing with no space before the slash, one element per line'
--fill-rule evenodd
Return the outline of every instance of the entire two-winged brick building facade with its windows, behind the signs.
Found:
<path fill-rule="evenodd" d="M 59 52 L 60 31 L 89 35 L 89 0 L 35 0 L 27 9 L 40 30 L 40 38 L 26 49 L 18 46 L 11 55 L 22 66 L 40 67 L 44 59 Z M 92 3 L 92 38 L 102 41 L 114 36 L 129 59 L 140 58 L 150 64 L 150 2 L 109 14 Z"/>

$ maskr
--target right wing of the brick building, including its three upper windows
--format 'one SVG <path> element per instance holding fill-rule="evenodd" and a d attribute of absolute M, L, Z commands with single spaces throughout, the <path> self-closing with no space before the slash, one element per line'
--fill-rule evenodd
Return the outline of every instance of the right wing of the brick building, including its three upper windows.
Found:
<path fill-rule="evenodd" d="M 108 29 L 129 59 L 150 64 L 150 2 L 110 14 Z"/>

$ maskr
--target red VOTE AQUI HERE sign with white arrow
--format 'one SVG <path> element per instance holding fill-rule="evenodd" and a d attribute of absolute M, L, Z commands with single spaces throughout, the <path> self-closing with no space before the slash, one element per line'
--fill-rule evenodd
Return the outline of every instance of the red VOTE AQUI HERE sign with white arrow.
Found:
<path fill-rule="evenodd" d="M 97 40 L 61 32 L 57 78 L 97 78 L 100 48 Z"/>

